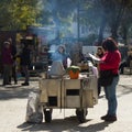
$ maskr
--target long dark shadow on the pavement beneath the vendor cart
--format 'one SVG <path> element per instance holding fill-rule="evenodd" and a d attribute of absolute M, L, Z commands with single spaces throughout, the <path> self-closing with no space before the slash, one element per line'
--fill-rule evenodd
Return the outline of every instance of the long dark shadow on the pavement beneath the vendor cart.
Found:
<path fill-rule="evenodd" d="M 78 132 L 97 132 L 105 130 L 105 128 L 109 127 L 108 122 L 99 122 L 96 124 L 88 124 L 91 120 L 87 120 L 85 123 L 79 123 L 76 118 L 66 118 L 62 119 L 54 119 L 51 123 L 41 123 L 41 124 L 33 124 L 33 123 L 23 123 L 20 124 L 18 128 L 21 131 L 30 131 L 30 132 L 37 132 L 37 131 L 50 131 L 50 132 L 62 132 L 62 131 L 78 131 Z M 84 127 L 85 125 L 85 127 Z"/>

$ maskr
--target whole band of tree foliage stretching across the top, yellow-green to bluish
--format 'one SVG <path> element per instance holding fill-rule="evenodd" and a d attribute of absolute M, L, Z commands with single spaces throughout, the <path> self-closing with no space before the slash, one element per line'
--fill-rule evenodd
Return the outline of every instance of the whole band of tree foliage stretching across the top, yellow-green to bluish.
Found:
<path fill-rule="evenodd" d="M 70 24 L 78 22 L 77 11 L 80 24 L 97 30 L 99 42 L 106 28 L 114 38 L 130 36 L 131 0 L 0 0 L 0 28 L 23 30 L 26 25 L 55 24 L 70 30 Z"/>

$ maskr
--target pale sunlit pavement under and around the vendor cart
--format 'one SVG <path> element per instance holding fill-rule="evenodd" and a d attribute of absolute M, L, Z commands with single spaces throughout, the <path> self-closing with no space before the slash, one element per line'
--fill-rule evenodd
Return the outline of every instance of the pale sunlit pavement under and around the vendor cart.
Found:
<path fill-rule="evenodd" d="M 118 85 L 118 121 L 103 122 L 107 100 L 103 90 L 98 105 L 88 109 L 87 121 L 79 123 L 74 109 L 53 110 L 51 123 L 28 124 L 25 111 L 29 92 L 38 88 L 36 79 L 30 86 L 0 86 L 0 132 L 132 132 L 132 76 L 121 75 Z M 0 80 L 0 84 L 2 81 Z"/>

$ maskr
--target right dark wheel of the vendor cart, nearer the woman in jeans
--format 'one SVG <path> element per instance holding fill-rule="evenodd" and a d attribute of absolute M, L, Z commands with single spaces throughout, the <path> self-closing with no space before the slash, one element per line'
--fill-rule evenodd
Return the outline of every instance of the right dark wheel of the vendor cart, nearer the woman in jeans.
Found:
<path fill-rule="evenodd" d="M 87 113 L 87 109 L 76 109 L 77 119 L 80 123 L 84 123 L 86 121 Z"/>

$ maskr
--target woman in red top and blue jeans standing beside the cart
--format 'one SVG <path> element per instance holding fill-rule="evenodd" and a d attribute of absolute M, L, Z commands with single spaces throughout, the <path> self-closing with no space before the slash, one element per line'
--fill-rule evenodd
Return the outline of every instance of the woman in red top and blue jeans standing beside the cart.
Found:
<path fill-rule="evenodd" d="M 108 100 L 108 112 L 101 117 L 105 121 L 117 121 L 117 95 L 116 88 L 119 81 L 119 65 L 121 62 L 121 54 L 118 50 L 117 43 L 113 38 L 108 37 L 103 43 L 102 47 L 106 53 L 101 57 L 99 65 L 100 72 L 111 70 L 113 80 L 109 86 L 105 87 L 106 98 Z M 109 76 L 108 76 L 109 78 Z"/>

